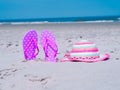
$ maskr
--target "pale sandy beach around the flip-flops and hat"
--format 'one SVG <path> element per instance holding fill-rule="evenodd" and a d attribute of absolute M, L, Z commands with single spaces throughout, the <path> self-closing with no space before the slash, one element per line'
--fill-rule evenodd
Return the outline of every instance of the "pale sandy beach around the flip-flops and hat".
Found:
<path fill-rule="evenodd" d="M 63 58 L 72 44 L 88 39 L 110 59 L 97 63 L 46 63 L 40 47 L 35 61 L 24 62 L 22 39 L 34 29 L 52 31 Z M 40 36 L 39 36 L 40 37 Z M 120 90 L 120 23 L 0 25 L 0 90 Z"/>

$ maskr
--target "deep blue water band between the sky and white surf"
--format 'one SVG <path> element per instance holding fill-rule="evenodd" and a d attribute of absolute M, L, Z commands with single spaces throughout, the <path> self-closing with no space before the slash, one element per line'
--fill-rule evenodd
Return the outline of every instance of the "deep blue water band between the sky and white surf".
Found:
<path fill-rule="evenodd" d="M 120 15 L 114 16 L 80 16 L 80 17 L 51 17 L 51 18 L 14 18 L 0 19 L 0 22 L 66 22 L 66 21 L 95 21 L 95 20 L 119 20 Z"/>

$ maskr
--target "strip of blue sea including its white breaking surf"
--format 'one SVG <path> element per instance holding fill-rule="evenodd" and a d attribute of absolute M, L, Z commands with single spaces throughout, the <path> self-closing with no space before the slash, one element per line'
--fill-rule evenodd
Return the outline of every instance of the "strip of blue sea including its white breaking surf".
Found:
<path fill-rule="evenodd" d="M 120 16 L 0 19 L 0 24 L 35 24 L 35 23 L 50 23 L 50 22 L 52 22 L 52 23 L 64 23 L 64 22 L 120 22 Z"/>

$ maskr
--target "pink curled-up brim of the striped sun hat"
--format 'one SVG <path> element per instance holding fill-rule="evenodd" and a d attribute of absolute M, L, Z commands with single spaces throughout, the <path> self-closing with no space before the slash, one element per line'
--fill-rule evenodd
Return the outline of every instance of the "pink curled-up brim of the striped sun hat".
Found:
<path fill-rule="evenodd" d="M 92 62 L 99 62 L 99 61 L 106 61 L 110 58 L 109 54 L 100 54 L 100 57 L 97 59 L 70 59 L 70 58 L 65 58 L 63 60 L 61 60 L 61 62 L 88 62 L 88 63 L 92 63 Z"/>

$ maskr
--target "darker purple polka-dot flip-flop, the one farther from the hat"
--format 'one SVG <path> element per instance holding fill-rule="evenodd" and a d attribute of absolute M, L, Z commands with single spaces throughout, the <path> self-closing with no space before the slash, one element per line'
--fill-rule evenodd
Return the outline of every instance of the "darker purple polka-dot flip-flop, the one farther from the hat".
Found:
<path fill-rule="evenodd" d="M 23 39 L 23 50 L 26 60 L 33 60 L 39 53 L 38 48 L 38 35 L 35 30 L 30 30 L 24 36 Z"/>

